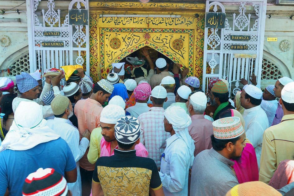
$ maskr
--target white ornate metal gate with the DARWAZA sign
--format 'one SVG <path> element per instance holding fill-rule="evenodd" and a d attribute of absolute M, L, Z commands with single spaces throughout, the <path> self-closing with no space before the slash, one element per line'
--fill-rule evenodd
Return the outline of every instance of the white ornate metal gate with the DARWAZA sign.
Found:
<path fill-rule="evenodd" d="M 239 10 L 227 13 L 222 3 L 238 6 Z M 239 80 L 249 80 L 253 73 L 260 84 L 266 3 L 265 0 L 206 1 L 203 89 L 207 89 L 211 78 L 218 77 L 228 80 L 229 91 L 235 95 L 240 90 Z"/>

